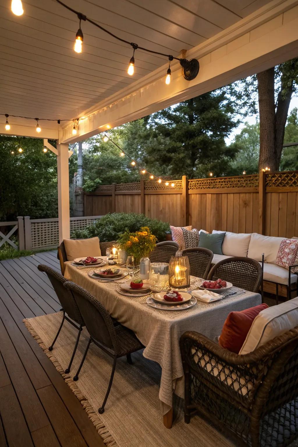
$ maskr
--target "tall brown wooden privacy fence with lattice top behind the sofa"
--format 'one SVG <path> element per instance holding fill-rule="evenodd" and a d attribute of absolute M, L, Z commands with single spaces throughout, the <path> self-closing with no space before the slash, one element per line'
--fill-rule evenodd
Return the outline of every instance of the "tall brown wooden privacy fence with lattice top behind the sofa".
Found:
<path fill-rule="evenodd" d="M 168 186 L 142 180 L 84 193 L 84 214 L 108 212 L 144 213 L 208 232 L 298 236 L 298 171 L 192 180 L 183 176 Z"/>

